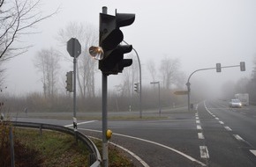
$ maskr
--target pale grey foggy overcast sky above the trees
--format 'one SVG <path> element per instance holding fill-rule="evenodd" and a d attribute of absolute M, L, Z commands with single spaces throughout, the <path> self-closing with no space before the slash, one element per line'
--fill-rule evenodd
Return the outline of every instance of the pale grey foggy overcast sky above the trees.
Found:
<path fill-rule="evenodd" d="M 138 51 L 143 71 L 147 71 L 148 60 L 160 62 L 164 57 L 178 58 L 186 77 L 196 69 L 213 68 L 217 62 L 222 66 L 245 62 L 245 72 L 233 68 L 222 69 L 222 73 L 201 71 L 193 76 L 215 82 L 211 85 L 215 88 L 227 81 L 250 77 L 252 72 L 256 55 L 255 0 L 41 0 L 41 11 L 45 14 L 59 6 L 56 16 L 37 26 L 36 31 L 41 33 L 25 38 L 34 47 L 8 63 L 8 91 L 42 91 L 40 74 L 33 64 L 36 52 L 59 46 L 56 33 L 70 22 L 89 23 L 98 28 L 102 6 L 107 6 L 112 15 L 116 9 L 136 14 L 134 23 L 122 31 L 124 40 Z M 142 75 L 143 84 L 149 84 L 150 76 L 145 72 Z"/>

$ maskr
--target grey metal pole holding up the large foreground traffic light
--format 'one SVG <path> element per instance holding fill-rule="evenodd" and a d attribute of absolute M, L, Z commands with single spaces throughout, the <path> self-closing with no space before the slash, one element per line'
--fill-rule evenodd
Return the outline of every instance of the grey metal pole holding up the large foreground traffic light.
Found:
<path fill-rule="evenodd" d="M 102 7 L 102 13 L 108 14 L 108 8 Z M 102 73 L 102 166 L 109 166 L 109 151 L 108 151 L 108 110 L 107 110 L 107 98 L 108 98 L 108 76 Z"/>

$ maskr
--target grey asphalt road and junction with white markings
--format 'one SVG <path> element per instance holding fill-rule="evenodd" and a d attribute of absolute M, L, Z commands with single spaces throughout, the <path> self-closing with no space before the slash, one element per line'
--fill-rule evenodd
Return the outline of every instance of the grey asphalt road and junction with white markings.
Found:
<path fill-rule="evenodd" d="M 109 113 L 111 115 L 113 113 Z M 118 115 L 118 113 L 115 113 Z M 122 115 L 133 113 L 122 113 Z M 226 101 L 205 101 L 195 110 L 148 112 L 151 120 L 109 120 L 109 142 L 137 158 L 139 166 L 256 166 L 256 107 L 229 108 Z M 18 120 L 72 127 L 72 120 Z M 79 120 L 79 130 L 102 138 L 101 120 Z"/>

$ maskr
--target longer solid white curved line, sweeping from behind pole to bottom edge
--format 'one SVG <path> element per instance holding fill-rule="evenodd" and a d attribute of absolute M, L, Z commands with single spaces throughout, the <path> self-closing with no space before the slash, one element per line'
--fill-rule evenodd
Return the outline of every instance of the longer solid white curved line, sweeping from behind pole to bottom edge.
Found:
<path fill-rule="evenodd" d="M 102 133 L 102 131 L 99 131 L 99 130 L 93 130 L 93 129 L 86 129 L 86 128 L 79 128 L 81 130 L 87 130 L 87 131 L 92 131 L 92 132 L 99 132 L 99 133 Z M 173 152 L 176 152 L 177 154 L 179 154 L 180 156 L 184 156 L 185 158 L 189 159 L 190 161 L 192 162 L 195 162 L 195 163 L 199 163 L 201 166 L 207 166 L 205 163 L 202 163 L 200 162 L 199 160 L 193 158 L 192 156 L 188 156 L 186 154 L 184 154 L 183 152 L 177 150 L 177 149 L 173 149 L 173 148 L 170 148 L 168 146 L 165 146 L 161 143 L 158 143 L 158 142 L 152 142 L 152 141 L 148 141 L 148 140 L 145 140 L 145 139 L 141 139 L 139 137 L 133 137 L 131 135 L 125 135 L 125 134 L 116 134 L 116 133 L 113 133 L 114 135 L 119 135 L 119 136 L 123 136 L 123 137 L 127 137 L 127 138 L 130 138 L 130 139 L 135 139 L 135 140 L 138 140 L 138 141 L 142 141 L 142 142 L 148 142 L 148 143 L 151 143 L 151 144 L 154 144 L 154 145 L 157 145 L 157 146 L 160 146 L 162 148 L 165 148 L 165 149 L 169 149 Z"/>

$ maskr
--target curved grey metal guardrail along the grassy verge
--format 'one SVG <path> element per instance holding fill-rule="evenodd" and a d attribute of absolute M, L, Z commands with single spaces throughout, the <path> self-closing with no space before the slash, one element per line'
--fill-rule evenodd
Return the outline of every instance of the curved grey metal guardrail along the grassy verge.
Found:
<path fill-rule="evenodd" d="M 90 164 L 91 167 L 98 167 L 102 162 L 102 157 L 100 155 L 99 150 L 95 146 L 94 142 L 92 142 L 86 135 L 81 134 L 79 131 L 74 131 L 72 128 L 51 125 L 51 124 L 43 124 L 43 123 L 32 123 L 32 122 L 20 122 L 20 121 L 11 121 L 13 127 L 30 127 L 30 128 L 39 128 L 40 134 L 42 129 L 54 130 L 58 132 L 62 132 L 64 134 L 71 134 L 76 136 L 76 140 L 80 140 L 81 142 L 87 145 L 87 149 L 89 149 L 90 155 Z"/>

